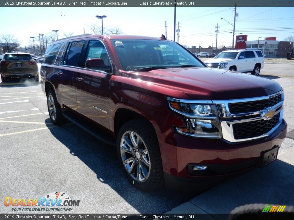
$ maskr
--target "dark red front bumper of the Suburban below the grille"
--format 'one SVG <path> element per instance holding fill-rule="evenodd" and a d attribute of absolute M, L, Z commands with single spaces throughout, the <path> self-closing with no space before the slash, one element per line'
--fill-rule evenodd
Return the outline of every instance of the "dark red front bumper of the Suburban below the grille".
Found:
<path fill-rule="evenodd" d="M 165 143 L 160 146 L 165 182 L 168 185 L 172 184 L 172 180 L 177 184 L 192 182 L 192 185 L 193 182 L 199 184 L 199 181 L 207 180 L 217 182 L 216 180 L 223 181 L 224 178 L 254 167 L 262 167 L 263 154 L 270 149 L 279 148 L 286 133 L 287 123 L 284 119 L 268 137 L 237 143 L 224 139 L 190 138 L 171 129 L 170 133 L 163 137 Z M 191 167 L 194 166 L 208 168 L 191 172 Z"/>

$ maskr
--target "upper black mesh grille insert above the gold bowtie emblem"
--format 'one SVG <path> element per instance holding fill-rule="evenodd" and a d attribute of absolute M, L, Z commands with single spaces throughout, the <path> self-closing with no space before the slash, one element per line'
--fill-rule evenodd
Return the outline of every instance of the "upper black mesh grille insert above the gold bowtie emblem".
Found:
<path fill-rule="evenodd" d="M 254 100 L 238 103 L 229 103 L 229 112 L 231 114 L 239 114 L 244 112 L 256 112 L 267 107 L 271 107 L 279 103 L 282 99 L 282 95 L 277 95 L 269 99 Z"/>

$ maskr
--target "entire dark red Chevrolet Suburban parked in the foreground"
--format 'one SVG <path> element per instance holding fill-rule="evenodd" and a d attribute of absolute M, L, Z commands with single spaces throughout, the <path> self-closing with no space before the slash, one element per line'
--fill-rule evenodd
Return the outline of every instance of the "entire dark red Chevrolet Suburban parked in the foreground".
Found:
<path fill-rule="evenodd" d="M 123 172 L 142 190 L 163 181 L 193 190 L 264 167 L 286 137 L 277 82 L 207 68 L 164 35 L 53 42 L 41 86 L 51 121 L 69 119 L 115 145 Z"/>

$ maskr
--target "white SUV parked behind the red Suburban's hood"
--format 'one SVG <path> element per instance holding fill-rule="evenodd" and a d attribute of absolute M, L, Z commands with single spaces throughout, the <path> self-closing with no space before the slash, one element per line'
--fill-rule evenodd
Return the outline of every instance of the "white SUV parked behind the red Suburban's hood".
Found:
<path fill-rule="evenodd" d="M 205 65 L 259 75 L 264 67 L 264 58 L 260 50 L 226 50 L 213 59 L 205 60 Z"/>

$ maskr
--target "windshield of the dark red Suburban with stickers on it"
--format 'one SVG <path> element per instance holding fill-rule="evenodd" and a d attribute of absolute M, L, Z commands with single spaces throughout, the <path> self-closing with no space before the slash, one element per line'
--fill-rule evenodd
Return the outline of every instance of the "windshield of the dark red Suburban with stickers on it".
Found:
<path fill-rule="evenodd" d="M 162 40 L 114 39 L 111 40 L 123 70 L 160 68 L 205 67 L 187 50 Z"/>

